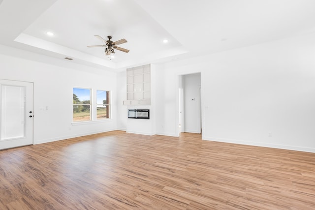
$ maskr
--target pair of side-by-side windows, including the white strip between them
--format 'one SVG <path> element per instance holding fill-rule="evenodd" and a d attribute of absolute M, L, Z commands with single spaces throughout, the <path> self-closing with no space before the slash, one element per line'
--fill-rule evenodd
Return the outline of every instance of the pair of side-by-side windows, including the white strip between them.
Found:
<path fill-rule="evenodd" d="M 96 101 L 96 103 L 95 103 Z M 110 91 L 73 88 L 73 122 L 110 118 Z"/>

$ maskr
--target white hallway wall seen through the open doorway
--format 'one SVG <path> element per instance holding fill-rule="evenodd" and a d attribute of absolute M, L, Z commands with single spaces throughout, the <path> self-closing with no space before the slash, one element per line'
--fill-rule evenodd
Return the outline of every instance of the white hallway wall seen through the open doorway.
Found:
<path fill-rule="evenodd" d="M 200 73 L 187 74 L 184 79 L 184 131 L 200 133 Z"/>

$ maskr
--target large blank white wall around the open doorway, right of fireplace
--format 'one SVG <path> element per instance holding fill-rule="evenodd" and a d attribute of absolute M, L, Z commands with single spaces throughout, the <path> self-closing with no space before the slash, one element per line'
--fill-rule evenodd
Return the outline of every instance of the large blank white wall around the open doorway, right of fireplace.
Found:
<path fill-rule="evenodd" d="M 315 152 L 314 69 L 314 34 L 167 63 L 159 134 L 177 134 L 178 75 L 201 72 L 203 139 Z"/>

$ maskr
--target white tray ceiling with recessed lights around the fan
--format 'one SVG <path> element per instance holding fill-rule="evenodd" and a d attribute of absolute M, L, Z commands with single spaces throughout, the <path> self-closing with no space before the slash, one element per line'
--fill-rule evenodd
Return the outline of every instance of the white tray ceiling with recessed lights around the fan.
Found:
<path fill-rule="evenodd" d="M 123 69 L 315 33 L 314 8 L 315 0 L 0 0 L 0 44 Z M 103 44 L 94 35 L 125 38 L 130 52 L 110 60 L 87 47 Z"/>

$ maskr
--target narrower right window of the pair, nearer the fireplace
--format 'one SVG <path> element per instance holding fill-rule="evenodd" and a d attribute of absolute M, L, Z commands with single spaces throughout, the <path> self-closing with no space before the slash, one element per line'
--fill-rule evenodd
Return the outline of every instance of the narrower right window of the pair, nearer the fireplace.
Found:
<path fill-rule="evenodd" d="M 96 119 L 108 119 L 109 118 L 109 91 L 96 90 Z"/>

